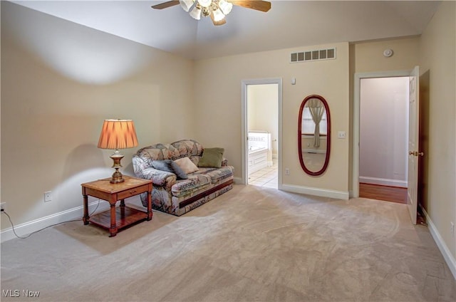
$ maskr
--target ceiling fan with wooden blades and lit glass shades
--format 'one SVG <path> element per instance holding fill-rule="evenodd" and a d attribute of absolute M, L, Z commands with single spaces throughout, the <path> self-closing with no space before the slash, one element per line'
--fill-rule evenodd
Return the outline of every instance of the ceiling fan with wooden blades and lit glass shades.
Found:
<path fill-rule="evenodd" d="M 232 10 L 233 5 L 264 12 L 271 9 L 271 2 L 269 1 L 250 0 L 177 0 L 166 1 L 151 7 L 152 9 L 167 9 L 177 4 L 180 4 L 182 9 L 187 11 L 194 19 L 199 20 L 202 16 L 210 16 L 214 25 L 227 23 L 225 16 Z"/>

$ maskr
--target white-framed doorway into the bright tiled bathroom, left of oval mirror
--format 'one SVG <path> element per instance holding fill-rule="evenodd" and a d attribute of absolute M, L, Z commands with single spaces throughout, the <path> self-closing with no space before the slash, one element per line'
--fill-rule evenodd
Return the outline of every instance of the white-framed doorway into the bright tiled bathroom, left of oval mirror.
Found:
<path fill-rule="evenodd" d="M 242 182 L 281 188 L 281 78 L 242 81 Z"/>

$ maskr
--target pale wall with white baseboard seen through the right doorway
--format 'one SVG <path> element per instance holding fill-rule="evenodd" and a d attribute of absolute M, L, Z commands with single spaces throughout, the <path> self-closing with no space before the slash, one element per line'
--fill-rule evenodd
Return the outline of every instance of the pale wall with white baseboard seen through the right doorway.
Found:
<path fill-rule="evenodd" d="M 408 78 L 363 78 L 360 182 L 407 187 Z"/>

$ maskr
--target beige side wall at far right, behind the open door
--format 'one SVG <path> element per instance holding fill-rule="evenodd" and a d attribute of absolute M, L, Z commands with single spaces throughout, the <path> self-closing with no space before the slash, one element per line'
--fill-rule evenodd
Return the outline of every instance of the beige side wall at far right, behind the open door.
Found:
<path fill-rule="evenodd" d="M 420 38 L 428 124 L 425 210 L 456 258 L 456 2 L 443 1 Z M 420 84 L 421 85 L 421 84 Z M 421 90 L 423 91 L 423 90 Z"/>

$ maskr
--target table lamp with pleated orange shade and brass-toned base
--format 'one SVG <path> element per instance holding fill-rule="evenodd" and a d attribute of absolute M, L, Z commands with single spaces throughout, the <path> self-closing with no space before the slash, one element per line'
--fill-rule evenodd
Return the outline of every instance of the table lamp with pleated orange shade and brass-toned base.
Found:
<path fill-rule="evenodd" d="M 111 184 L 124 182 L 122 173 L 119 172 L 120 160 L 123 159 L 123 154 L 119 149 L 127 149 L 138 146 L 138 137 L 136 137 L 135 124 L 133 120 L 105 120 L 101 128 L 98 147 L 100 149 L 115 150 L 110 158 L 113 159 L 113 168 L 115 172 L 113 178 L 110 179 Z"/>

